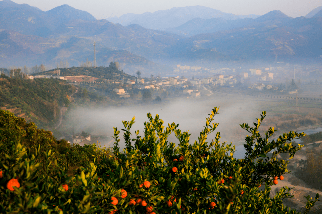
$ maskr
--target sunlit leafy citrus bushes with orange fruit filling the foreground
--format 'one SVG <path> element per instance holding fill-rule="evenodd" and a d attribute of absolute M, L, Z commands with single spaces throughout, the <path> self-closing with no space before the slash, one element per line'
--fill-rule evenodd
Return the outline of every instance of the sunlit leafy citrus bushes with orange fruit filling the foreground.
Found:
<path fill-rule="evenodd" d="M 232 144 L 221 144 L 220 133 L 211 143 L 206 142 L 207 135 L 218 126 L 212 123 L 217 111 L 214 108 L 206 118 L 206 125 L 193 145 L 189 143 L 188 132 L 182 132 L 175 123 L 163 126 L 158 115 L 153 118 L 147 114 L 149 120 L 144 123 L 144 136 L 139 136 L 139 131 L 135 131 L 137 137 L 134 139 L 131 139 L 130 132 L 134 117 L 131 121 L 123 121 L 126 143 L 123 152 L 118 147 L 119 131 L 114 128 L 116 142 L 113 150 L 116 158 L 103 154 L 99 164 L 95 159 L 89 167 L 80 167 L 72 178 L 66 175 L 68 165 L 59 166 L 51 151 L 43 153 L 45 174 L 36 176 L 40 168 L 36 163 L 40 146 L 26 150 L 20 144 L 21 133 L 18 133 L 0 163 L 3 172 L 0 190 L 4 196 L 0 202 L 0 212 L 142 214 L 151 206 L 156 214 L 297 213 L 296 210 L 288 210 L 281 202 L 283 198 L 292 197 L 288 193 L 289 188 L 282 188 L 273 199 L 269 194 L 273 185 L 272 176 L 288 173 L 288 162 L 278 161 L 276 155 L 288 153 L 292 158 L 301 146 L 293 146 L 291 140 L 305 134 L 290 132 L 279 136 L 276 141 L 269 141 L 274 128 L 268 129 L 265 136 L 258 133 L 265 117 L 263 112 L 254 127 L 241 125 L 250 133 L 244 144 L 247 153 L 244 159 L 234 159 L 234 147 Z M 178 147 L 167 141 L 173 132 L 179 141 Z M 272 149 L 276 150 L 273 158 L 266 158 Z M 94 156 L 99 157 L 97 154 Z M 173 172 L 173 167 L 178 171 Z M 20 187 L 14 187 L 14 191 L 6 188 L 6 183 L 12 178 L 20 183 Z M 223 179 L 224 183 L 218 182 Z M 149 181 L 151 186 L 143 186 L 144 181 Z M 70 186 L 73 183 L 77 186 L 68 190 L 62 187 L 62 184 Z M 265 189 L 259 190 L 259 184 L 264 184 Z M 121 197 L 121 190 L 127 191 L 127 197 Z M 112 205 L 112 197 L 118 203 Z M 318 198 L 318 194 L 315 200 L 308 197 L 307 211 Z M 145 200 L 147 205 L 129 205 L 131 199 Z M 169 200 L 172 206 L 167 203 Z M 213 209 L 210 208 L 211 202 L 216 203 Z"/>

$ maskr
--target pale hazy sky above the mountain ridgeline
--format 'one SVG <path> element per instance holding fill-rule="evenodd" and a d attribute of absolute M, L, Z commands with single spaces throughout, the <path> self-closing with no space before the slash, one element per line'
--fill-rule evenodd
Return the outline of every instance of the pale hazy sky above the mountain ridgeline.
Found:
<path fill-rule="evenodd" d="M 304 16 L 322 5 L 322 0 L 13 0 L 18 4 L 36 6 L 43 11 L 63 4 L 85 10 L 96 19 L 106 19 L 127 13 L 142 14 L 157 10 L 202 5 L 232 14 L 263 15 L 280 10 L 291 17 Z"/>

